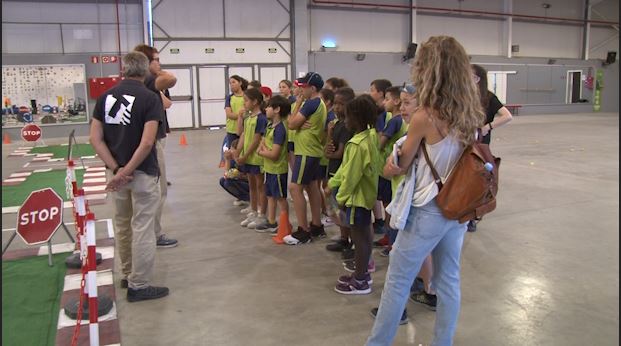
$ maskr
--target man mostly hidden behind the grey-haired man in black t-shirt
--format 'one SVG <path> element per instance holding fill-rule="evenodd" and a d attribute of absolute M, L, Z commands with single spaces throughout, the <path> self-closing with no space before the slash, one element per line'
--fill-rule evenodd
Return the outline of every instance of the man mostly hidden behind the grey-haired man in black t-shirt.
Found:
<path fill-rule="evenodd" d="M 134 48 L 134 51 L 144 53 L 149 59 L 149 72 L 150 74 L 145 78 L 144 84 L 147 86 L 149 90 L 155 93 L 159 98 L 161 98 L 162 104 L 164 105 L 164 109 L 170 107 L 172 102 L 170 101 L 169 96 L 166 96 L 168 93 L 168 89 L 175 86 L 177 83 L 177 78 L 172 75 L 170 72 L 162 70 L 160 67 L 160 55 L 157 49 L 147 46 L 145 44 L 140 44 Z M 170 95 L 170 94 L 168 94 Z M 157 143 L 155 144 L 155 149 L 157 152 L 157 162 L 160 165 L 160 204 L 158 205 L 157 212 L 155 214 L 155 236 L 157 237 L 157 247 L 159 248 L 169 248 L 177 246 L 177 240 L 166 237 L 165 234 L 162 233 L 162 211 L 164 208 L 164 202 L 166 201 L 166 196 L 168 195 L 168 184 L 166 179 L 166 164 L 164 160 L 164 145 L 166 141 L 167 133 L 170 132 L 170 127 L 168 126 L 168 118 L 166 115 L 166 111 L 162 110 L 162 122 L 157 129 Z"/>

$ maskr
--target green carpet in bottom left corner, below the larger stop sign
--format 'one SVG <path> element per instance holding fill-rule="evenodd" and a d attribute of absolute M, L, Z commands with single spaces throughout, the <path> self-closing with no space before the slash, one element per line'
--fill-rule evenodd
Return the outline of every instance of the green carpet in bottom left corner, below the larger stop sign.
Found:
<path fill-rule="evenodd" d="M 2 261 L 2 345 L 56 344 L 68 255 Z"/>

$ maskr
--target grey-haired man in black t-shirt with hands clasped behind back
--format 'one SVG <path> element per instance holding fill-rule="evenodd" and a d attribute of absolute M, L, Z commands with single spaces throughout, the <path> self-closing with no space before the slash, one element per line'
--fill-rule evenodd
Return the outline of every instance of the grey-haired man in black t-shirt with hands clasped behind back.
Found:
<path fill-rule="evenodd" d="M 113 174 L 106 189 L 113 192 L 121 287 L 128 287 L 130 302 L 168 295 L 168 288 L 150 285 L 160 200 L 155 141 L 163 106 L 143 84 L 148 63 L 139 52 L 123 57 L 125 79 L 99 97 L 90 130 L 93 148 Z"/>

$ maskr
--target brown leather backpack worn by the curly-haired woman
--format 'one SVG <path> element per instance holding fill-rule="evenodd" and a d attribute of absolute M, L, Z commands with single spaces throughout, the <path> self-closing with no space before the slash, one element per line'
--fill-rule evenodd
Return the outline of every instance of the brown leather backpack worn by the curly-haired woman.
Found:
<path fill-rule="evenodd" d="M 464 223 L 480 219 L 496 209 L 500 158 L 492 155 L 489 145 L 480 142 L 481 138 L 479 133 L 479 141 L 464 149 L 444 184 L 429 159 L 425 143 L 421 143 L 425 160 L 438 185 L 436 203 L 447 219 Z M 491 165 L 486 168 L 486 163 Z"/>

